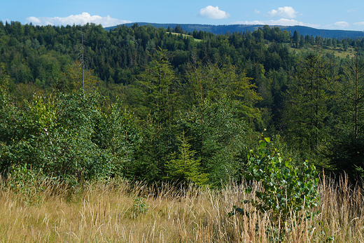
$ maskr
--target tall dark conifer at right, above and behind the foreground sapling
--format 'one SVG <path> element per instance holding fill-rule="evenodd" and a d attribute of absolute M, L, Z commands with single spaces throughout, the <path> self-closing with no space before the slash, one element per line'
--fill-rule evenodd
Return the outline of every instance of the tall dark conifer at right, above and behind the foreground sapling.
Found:
<path fill-rule="evenodd" d="M 284 123 L 286 136 L 295 148 L 311 155 L 330 139 L 330 100 L 337 74 L 330 58 L 310 53 L 288 84 Z"/>

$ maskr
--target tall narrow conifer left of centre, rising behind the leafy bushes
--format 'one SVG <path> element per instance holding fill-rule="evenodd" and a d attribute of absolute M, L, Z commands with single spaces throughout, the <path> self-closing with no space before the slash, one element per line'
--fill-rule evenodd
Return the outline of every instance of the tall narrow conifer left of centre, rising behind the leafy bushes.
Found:
<path fill-rule="evenodd" d="M 158 50 L 155 53 L 153 60 L 141 74 L 139 83 L 145 94 L 144 104 L 149 109 L 146 116 L 153 123 L 152 130 L 155 132 L 155 136 L 151 137 L 156 150 L 153 162 L 162 172 L 173 143 L 171 135 L 176 112 L 176 78 L 167 50 Z"/>

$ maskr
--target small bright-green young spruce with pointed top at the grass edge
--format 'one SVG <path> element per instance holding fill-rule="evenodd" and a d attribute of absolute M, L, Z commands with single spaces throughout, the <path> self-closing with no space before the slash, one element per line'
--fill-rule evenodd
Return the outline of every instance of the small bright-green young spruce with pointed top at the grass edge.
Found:
<path fill-rule="evenodd" d="M 165 163 L 167 177 L 166 179 L 178 182 L 189 181 L 202 185 L 209 181 L 209 174 L 202 173 L 200 167 L 201 158 L 195 159 L 196 151 L 191 151 L 191 145 L 188 144 L 188 139 L 185 132 L 178 137 L 179 153 L 172 153 L 172 160 Z"/>

